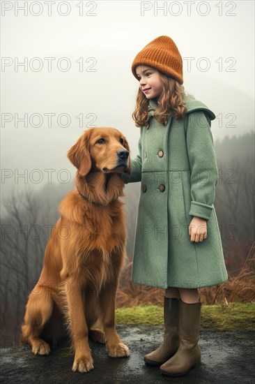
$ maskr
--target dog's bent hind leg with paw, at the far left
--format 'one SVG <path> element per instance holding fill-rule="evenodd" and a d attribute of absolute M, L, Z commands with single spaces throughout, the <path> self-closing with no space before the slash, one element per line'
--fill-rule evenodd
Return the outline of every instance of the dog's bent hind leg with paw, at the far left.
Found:
<path fill-rule="evenodd" d="M 38 292 L 38 294 L 35 294 Z M 49 355 L 49 344 L 40 339 L 43 327 L 52 315 L 53 300 L 49 290 L 37 284 L 29 295 L 26 304 L 24 324 L 22 325 L 21 341 L 30 344 L 32 352 L 37 355 Z"/>

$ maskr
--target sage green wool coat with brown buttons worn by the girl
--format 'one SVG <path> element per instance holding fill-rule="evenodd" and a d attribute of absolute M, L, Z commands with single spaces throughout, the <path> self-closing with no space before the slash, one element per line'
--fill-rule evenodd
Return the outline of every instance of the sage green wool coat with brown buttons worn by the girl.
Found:
<path fill-rule="evenodd" d="M 158 288 L 201 288 L 228 279 L 213 202 L 218 182 L 211 120 L 206 105 L 185 96 L 187 115 L 154 117 L 140 128 L 139 155 L 124 181 L 140 182 L 141 193 L 134 240 L 132 281 Z M 193 216 L 207 221 L 203 242 L 191 242 Z"/>

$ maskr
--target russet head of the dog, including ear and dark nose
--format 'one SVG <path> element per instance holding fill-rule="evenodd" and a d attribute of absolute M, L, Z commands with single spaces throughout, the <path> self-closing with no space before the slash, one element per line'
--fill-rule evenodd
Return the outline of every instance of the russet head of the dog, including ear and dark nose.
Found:
<path fill-rule="evenodd" d="M 68 158 L 81 176 L 88 175 L 91 170 L 130 173 L 129 153 L 125 136 L 116 128 L 90 128 L 68 151 Z"/>

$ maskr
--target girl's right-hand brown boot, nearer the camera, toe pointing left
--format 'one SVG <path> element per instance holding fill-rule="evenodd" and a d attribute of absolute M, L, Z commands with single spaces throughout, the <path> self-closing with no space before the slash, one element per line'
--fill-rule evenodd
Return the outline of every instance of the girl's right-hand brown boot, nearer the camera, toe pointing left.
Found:
<path fill-rule="evenodd" d="M 194 304 L 187 304 L 180 300 L 180 346 L 176 354 L 160 367 L 162 374 L 182 376 L 200 364 L 201 350 L 198 345 L 200 319 L 200 301 Z"/>

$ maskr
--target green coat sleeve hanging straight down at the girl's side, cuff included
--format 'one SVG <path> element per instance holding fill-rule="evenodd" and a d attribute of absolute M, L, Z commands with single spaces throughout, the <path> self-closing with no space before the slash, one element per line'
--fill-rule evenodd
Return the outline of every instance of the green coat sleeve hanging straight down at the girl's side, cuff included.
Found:
<path fill-rule="evenodd" d="M 187 117 L 187 154 L 191 170 L 191 216 L 210 219 L 219 180 L 217 160 L 206 112 L 194 111 Z"/>

